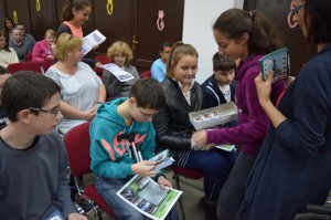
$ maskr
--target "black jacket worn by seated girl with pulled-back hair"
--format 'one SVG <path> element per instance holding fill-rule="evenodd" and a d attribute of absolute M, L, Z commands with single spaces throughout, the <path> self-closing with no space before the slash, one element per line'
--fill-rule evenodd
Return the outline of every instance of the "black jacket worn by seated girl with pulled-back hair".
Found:
<path fill-rule="evenodd" d="M 153 117 L 158 147 L 172 150 L 191 149 L 191 136 L 195 130 L 189 113 L 200 111 L 202 91 L 199 83 L 191 90 L 191 105 L 186 102 L 178 83 L 170 77 L 162 82 L 166 107 Z"/>

